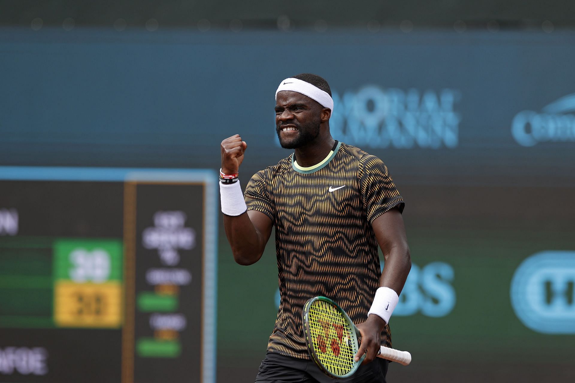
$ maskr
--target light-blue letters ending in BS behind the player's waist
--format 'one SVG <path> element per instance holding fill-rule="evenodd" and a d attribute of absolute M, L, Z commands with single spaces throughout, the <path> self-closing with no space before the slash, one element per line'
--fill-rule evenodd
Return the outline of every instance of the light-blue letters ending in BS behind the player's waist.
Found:
<path fill-rule="evenodd" d="M 455 289 L 450 284 L 453 278 L 453 267 L 445 262 L 432 262 L 422 269 L 412 264 L 393 315 L 409 316 L 421 312 L 439 318 L 450 314 L 455 307 Z M 274 300 L 275 307 L 279 308 L 279 288 Z"/>

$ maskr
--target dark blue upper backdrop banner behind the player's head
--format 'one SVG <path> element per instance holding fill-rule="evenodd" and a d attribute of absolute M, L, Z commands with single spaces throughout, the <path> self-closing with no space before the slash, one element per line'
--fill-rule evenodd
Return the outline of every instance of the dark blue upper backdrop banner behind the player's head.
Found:
<path fill-rule="evenodd" d="M 575 122 L 566 142 L 527 148 L 511 134 L 517 113 L 542 113 L 575 93 L 573 37 L 5 28 L 0 163 L 217 168 L 220 141 L 239 133 L 255 171 L 290 153 L 275 144 L 277 84 L 314 72 L 340 97 L 364 87 L 415 90 L 420 111 L 426 92 L 456 94 L 454 148 L 370 148 L 344 136 L 405 181 L 516 184 L 536 174 L 573 185 Z"/>

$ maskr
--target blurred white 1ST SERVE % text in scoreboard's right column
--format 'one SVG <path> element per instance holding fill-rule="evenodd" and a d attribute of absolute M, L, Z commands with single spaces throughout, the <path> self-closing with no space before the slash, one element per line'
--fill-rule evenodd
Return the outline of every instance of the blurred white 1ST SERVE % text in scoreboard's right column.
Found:
<path fill-rule="evenodd" d="M 184 227 L 187 216 L 183 211 L 158 211 L 154 214 L 154 227 L 142 233 L 146 249 L 158 249 L 164 265 L 179 263 L 178 249 L 191 250 L 196 246 L 196 230 Z"/>

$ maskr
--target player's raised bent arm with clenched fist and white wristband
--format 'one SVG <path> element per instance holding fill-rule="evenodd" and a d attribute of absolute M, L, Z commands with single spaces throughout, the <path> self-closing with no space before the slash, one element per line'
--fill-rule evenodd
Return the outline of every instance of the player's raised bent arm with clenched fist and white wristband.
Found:
<path fill-rule="evenodd" d="M 221 172 L 235 175 L 244 159 L 247 144 L 239 134 L 221 142 Z M 247 211 L 239 181 L 220 185 L 225 234 L 234 260 L 240 265 L 254 264 L 262 257 L 270 238 L 272 222 L 262 212 Z"/>

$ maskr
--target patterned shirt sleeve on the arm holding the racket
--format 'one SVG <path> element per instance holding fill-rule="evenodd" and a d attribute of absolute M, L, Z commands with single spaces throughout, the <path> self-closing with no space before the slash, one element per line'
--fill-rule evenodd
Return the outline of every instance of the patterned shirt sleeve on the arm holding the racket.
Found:
<path fill-rule="evenodd" d="M 388 168 L 378 157 L 371 155 L 362 157 L 359 166 L 359 185 L 363 196 L 363 208 L 369 223 L 396 206 L 403 212 L 404 200 L 393 184 Z"/>

